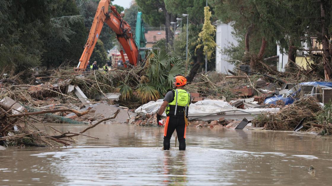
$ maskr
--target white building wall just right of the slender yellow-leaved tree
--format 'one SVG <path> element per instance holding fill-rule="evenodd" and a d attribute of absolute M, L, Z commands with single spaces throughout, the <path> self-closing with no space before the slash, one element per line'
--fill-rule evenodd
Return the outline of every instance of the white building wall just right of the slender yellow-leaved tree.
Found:
<path fill-rule="evenodd" d="M 229 57 L 223 54 L 224 48 L 231 47 L 232 44 L 236 46 L 238 43 L 232 35 L 233 27 L 229 24 L 221 23 L 220 21 L 214 22 L 217 28 L 216 31 L 216 50 L 215 50 L 215 71 L 219 73 L 226 73 L 227 70 L 233 70 L 235 67 L 228 60 Z"/>

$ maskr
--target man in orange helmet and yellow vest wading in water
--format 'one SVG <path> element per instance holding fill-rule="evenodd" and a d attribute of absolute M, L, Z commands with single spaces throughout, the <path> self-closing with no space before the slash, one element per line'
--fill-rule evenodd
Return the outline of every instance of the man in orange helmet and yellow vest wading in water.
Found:
<path fill-rule="evenodd" d="M 176 76 L 174 81 L 174 90 L 167 92 L 164 102 L 157 113 L 157 122 L 160 125 L 160 117 L 166 109 L 166 122 L 164 128 L 164 150 L 169 150 L 170 141 L 174 130 L 176 130 L 179 140 L 179 150 L 186 150 L 186 127 L 188 125 L 188 109 L 190 105 L 190 94 L 183 90 L 187 79 L 182 76 Z"/>

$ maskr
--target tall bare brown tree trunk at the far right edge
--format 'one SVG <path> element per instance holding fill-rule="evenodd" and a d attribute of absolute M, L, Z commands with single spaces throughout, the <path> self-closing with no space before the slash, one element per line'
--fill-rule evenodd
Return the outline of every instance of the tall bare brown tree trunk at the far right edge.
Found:
<path fill-rule="evenodd" d="M 323 58 L 324 58 L 324 71 L 325 71 L 325 79 L 330 80 L 332 77 L 332 69 L 331 69 L 331 55 L 329 49 L 329 34 L 327 31 L 328 25 L 325 24 L 325 18 L 328 17 L 326 15 L 326 7 L 328 6 L 327 0 L 320 1 L 320 16 L 321 16 L 321 29 L 322 29 L 322 46 L 323 46 Z"/>

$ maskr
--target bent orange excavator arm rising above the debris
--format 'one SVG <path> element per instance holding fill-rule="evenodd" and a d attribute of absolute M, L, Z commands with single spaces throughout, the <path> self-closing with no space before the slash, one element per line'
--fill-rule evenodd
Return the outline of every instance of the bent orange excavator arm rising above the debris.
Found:
<path fill-rule="evenodd" d="M 133 39 L 131 27 L 117 12 L 115 6 L 112 6 L 110 3 L 111 0 L 101 0 L 99 2 L 97 12 L 89 33 L 89 37 L 84 47 L 83 54 L 79 60 L 77 67 L 74 68 L 74 70 L 84 71 L 86 69 L 104 23 L 109 25 L 117 35 L 116 37 L 121 45 L 120 54 L 122 60 L 125 62 L 123 52 L 124 50 L 127 54 L 129 63 L 133 66 L 137 65 L 137 62 L 139 60 L 139 50 L 136 46 L 135 40 Z"/>

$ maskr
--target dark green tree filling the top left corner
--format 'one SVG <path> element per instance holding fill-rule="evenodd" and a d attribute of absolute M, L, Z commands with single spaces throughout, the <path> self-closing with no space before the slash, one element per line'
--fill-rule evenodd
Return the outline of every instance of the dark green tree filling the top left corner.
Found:
<path fill-rule="evenodd" d="M 58 10 L 51 0 L 0 1 L 0 66 L 24 70 L 40 64 L 44 36 Z"/>

